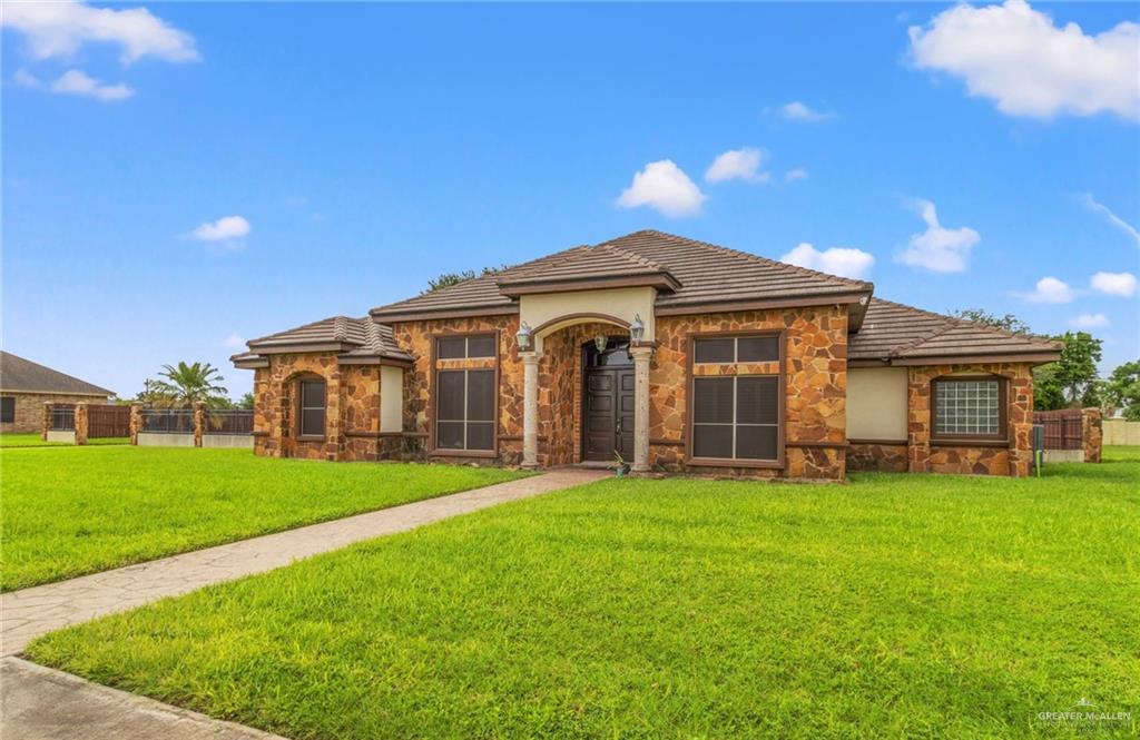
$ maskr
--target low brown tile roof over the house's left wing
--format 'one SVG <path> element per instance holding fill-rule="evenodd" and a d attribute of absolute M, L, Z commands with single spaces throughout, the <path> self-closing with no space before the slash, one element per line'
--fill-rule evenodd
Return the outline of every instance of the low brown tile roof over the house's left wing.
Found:
<path fill-rule="evenodd" d="M 267 351 L 287 351 L 291 347 L 331 345 L 350 357 L 385 357 L 409 360 L 412 357 L 396 344 L 392 327 L 376 324 L 368 317 L 333 316 L 295 328 L 246 342 L 249 352 L 234 355 L 235 363 L 256 359 Z"/>

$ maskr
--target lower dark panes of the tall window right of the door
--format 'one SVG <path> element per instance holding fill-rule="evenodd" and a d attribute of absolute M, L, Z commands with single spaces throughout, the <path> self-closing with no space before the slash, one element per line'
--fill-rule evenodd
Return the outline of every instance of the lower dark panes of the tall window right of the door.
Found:
<path fill-rule="evenodd" d="M 694 379 L 693 457 L 779 460 L 780 379 Z"/>

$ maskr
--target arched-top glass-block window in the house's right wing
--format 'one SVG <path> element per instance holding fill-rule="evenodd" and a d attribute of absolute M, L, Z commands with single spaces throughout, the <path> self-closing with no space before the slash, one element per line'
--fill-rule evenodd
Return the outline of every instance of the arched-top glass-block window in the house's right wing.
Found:
<path fill-rule="evenodd" d="M 933 385 L 935 438 L 1005 438 L 1005 384 L 1002 379 L 939 377 Z"/>

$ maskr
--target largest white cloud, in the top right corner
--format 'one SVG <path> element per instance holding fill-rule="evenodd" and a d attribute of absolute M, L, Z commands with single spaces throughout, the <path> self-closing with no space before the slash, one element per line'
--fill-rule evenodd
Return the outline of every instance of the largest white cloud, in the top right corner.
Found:
<path fill-rule="evenodd" d="M 1025 0 L 1007 0 L 982 8 L 954 6 L 909 33 L 920 68 L 963 79 L 971 96 L 996 100 L 1009 115 L 1048 119 L 1108 111 L 1140 119 L 1135 23 L 1088 35 L 1075 23 L 1057 27 Z"/>

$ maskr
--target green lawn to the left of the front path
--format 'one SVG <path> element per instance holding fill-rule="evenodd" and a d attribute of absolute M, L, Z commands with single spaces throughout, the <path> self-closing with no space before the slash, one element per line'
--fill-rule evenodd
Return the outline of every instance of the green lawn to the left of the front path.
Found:
<path fill-rule="evenodd" d="M 487 486 L 520 473 L 249 450 L 0 450 L 5 591 Z"/>

